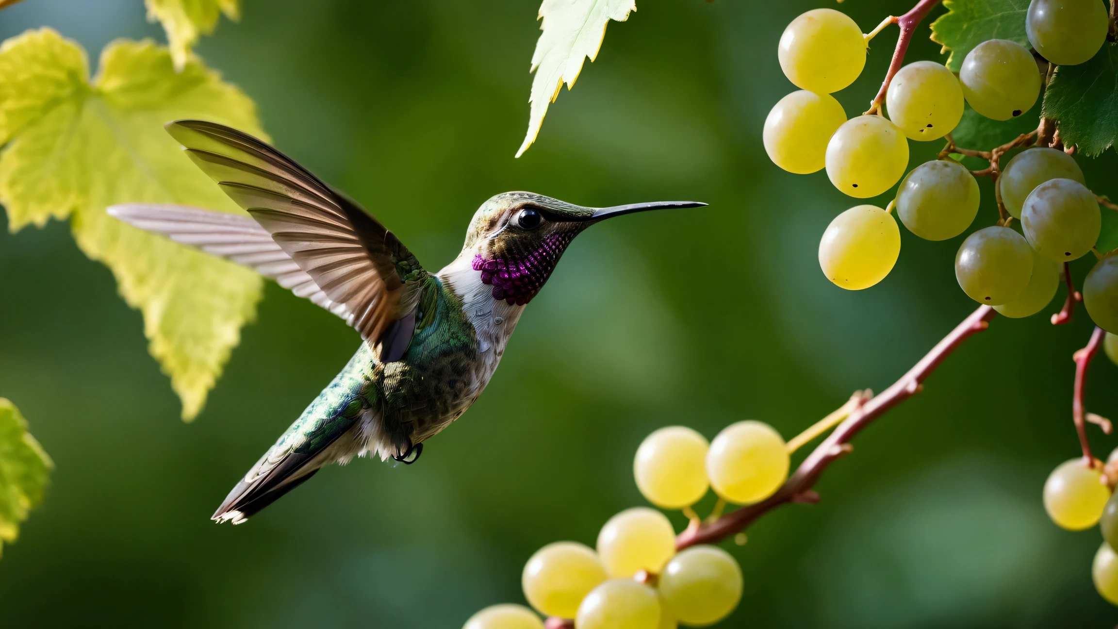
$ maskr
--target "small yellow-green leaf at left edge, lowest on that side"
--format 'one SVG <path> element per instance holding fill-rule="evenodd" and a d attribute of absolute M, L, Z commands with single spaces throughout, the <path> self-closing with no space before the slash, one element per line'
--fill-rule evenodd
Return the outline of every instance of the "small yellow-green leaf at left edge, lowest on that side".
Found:
<path fill-rule="evenodd" d="M 27 432 L 19 409 L 0 397 L 0 551 L 16 541 L 19 523 L 42 501 L 50 457 Z"/>

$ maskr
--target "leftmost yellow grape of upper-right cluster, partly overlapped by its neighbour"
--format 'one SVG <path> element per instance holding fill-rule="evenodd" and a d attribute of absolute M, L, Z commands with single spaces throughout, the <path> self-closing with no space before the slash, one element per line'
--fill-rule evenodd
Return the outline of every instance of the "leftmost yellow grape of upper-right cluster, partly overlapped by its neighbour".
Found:
<path fill-rule="evenodd" d="M 823 168 L 827 141 L 844 122 L 846 112 L 831 94 L 793 92 L 765 119 L 765 151 L 788 172 L 815 172 Z"/>

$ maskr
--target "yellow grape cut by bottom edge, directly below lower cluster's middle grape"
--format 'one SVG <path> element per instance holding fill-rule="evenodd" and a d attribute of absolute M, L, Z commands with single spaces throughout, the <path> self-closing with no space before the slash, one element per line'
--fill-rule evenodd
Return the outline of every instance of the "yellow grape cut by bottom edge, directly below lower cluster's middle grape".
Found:
<path fill-rule="evenodd" d="M 578 605 L 578 629 L 659 629 L 656 591 L 632 579 L 606 581 Z"/>

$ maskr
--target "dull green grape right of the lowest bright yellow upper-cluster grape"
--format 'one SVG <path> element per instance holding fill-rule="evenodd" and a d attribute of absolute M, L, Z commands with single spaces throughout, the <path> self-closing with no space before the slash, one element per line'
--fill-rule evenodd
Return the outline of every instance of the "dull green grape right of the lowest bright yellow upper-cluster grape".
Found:
<path fill-rule="evenodd" d="M 897 216 L 927 241 L 954 238 L 978 214 L 978 182 L 963 165 L 932 160 L 912 169 L 897 189 Z"/>

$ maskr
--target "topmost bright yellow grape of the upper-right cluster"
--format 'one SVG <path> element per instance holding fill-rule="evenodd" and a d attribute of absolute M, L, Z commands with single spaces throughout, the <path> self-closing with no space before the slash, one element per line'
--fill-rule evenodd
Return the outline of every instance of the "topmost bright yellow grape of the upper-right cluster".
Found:
<path fill-rule="evenodd" d="M 819 94 L 854 83 L 865 66 L 865 38 L 850 16 L 834 9 L 813 9 L 784 29 L 777 57 L 796 87 Z"/>

